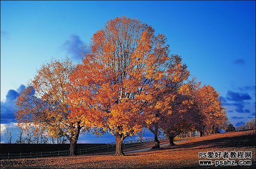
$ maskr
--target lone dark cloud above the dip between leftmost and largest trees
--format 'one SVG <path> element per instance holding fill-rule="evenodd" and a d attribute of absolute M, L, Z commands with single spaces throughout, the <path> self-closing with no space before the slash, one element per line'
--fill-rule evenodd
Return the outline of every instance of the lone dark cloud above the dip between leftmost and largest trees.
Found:
<path fill-rule="evenodd" d="M 82 56 L 89 51 L 88 47 L 77 35 L 71 35 L 70 39 L 62 47 L 71 55 L 71 59 L 76 61 L 81 61 Z"/>

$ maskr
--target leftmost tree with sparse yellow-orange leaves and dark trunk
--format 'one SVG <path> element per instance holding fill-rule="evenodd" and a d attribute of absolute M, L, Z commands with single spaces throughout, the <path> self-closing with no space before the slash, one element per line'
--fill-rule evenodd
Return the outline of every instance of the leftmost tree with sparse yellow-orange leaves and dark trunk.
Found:
<path fill-rule="evenodd" d="M 69 110 L 67 88 L 71 88 L 69 75 L 75 66 L 69 59 L 52 60 L 40 70 L 17 98 L 16 120 L 24 130 L 33 127 L 33 133 L 54 138 L 62 135 L 70 141 L 70 155 L 76 155 L 79 133 L 88 128 L 83 126 L 83 115 Z M 39 131 L 39 132 L 38 132 Z"/>

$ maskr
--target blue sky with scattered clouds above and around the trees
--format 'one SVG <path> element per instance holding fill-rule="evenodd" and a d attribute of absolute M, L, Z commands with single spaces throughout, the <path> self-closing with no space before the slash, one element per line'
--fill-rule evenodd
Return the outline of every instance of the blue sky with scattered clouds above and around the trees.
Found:
<path fill-rule="evenodd" d="M 1 123 L 15 122 L 13 100 L 43 63 L 79 62 L 117 16 L 163 33 L 190 73 L 219 91 L 233 125 L 255 117 L 255 1 L 1 1 Z"/>

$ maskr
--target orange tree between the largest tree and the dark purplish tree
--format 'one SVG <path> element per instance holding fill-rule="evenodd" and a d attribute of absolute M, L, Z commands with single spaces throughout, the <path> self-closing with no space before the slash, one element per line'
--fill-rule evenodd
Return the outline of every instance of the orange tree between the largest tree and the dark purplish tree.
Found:
<path fill-rule="evenodd" d="M 189 76 L 187 66 L 182 64 L 179 55 L 171 55 L 161 67 L 163 74 L 153 82 L 151 90 L 148 92 L 151 99 L 147 100 L 147 104 L 143 108 L 146 125 L 155 137 L 153 149 L 160 147 L 157 137 L 160 126 L 163 127 L 163 123 L 167 125 L 170 119 L 176 121 L 175 116 L 170 117 L 173 116 L 171 115 L 173 113 L 172 107 L 182 104 L 184 101 L 184 95 L 179 93 L 179 90 Z M 167 132 L 166 128 L 162 129 Z"/>

